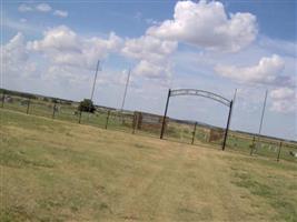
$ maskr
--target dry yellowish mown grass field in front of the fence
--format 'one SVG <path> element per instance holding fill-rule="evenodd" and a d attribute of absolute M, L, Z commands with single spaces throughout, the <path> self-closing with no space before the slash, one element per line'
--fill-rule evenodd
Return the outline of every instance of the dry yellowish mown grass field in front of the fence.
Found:
<path fill-rule="evenodd" d="M 0 109 L 0 221 L 297 221 L 297 164 Z"/>

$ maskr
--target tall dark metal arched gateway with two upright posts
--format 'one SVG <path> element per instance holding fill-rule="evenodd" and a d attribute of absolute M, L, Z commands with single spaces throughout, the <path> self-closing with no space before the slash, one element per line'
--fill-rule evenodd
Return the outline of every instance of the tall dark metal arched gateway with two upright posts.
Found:
<path fill-rule="evenodd" d="M 208 98 L 211 100 L 215 100 L 226 107 L 229 108 L 229 114 L 228 114 L 228 120 L 227 120 L 227 127 L 225 130 L 225 135 L 224 135 L 224 142 L 221 149 L 225 150 L 226 147 L 226 141 L 228 137 L 228 131 L 229 131 L 229 124 L 230 124 L 230 117 L 231 117 L 231 111 L 232 111 L 232 100 L 228 100 L 219 94 L 216 94 L 214 92 L 208 92 L 205 90 L 195 90 L 195 89 L 177 89 L 177 90 L 171 90 L 169 89 L 168 91 L 168 97 L 166 101 L 166 107 L 165 107 L 165 113 L 164 113 L 164 119 L 162 119 L 162 128 L 161 128 L 161 133 L 160 133 L 160 139 L 164 138 L 164 131 L 165 131 L 165 122 L 167 118 L 167 111 L 168 111 L 168 105 L 169 105 L 169 100 L 170 97 L 178 97 L 178 95 L 198 95 L 198 97 L 204 97 Z"/>

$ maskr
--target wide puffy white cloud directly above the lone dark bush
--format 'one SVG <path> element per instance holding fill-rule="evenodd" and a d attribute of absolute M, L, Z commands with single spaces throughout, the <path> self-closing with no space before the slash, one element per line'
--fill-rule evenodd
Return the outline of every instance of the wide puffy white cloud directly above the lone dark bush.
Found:
<path fill-rule="evenodd" d="M 40 52 L 55 64 L 93 69 L 98 59 L 121 48 L 122 40 L 113 32 L 107 39 L 78 36 L 66 26 L 49 29 L 43 39 L 27 43 L 28 50 Z"/>

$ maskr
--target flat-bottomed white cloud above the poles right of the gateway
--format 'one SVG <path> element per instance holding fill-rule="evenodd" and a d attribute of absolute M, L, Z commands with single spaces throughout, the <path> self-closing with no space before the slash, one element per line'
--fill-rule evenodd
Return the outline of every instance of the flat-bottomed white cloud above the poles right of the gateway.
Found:
<path fill-rule="evenodd" d="M 285 75 L 280 75 L 285 69 L 284 60 L 273 54 L 270 58 L 264 57 L 258 64 L 251 67 L 221 65 L 215 67 L 215 71 L 238 82 L 246 83 L 268 83 L 268 84 L 286 84 L 290 81 Z"/>

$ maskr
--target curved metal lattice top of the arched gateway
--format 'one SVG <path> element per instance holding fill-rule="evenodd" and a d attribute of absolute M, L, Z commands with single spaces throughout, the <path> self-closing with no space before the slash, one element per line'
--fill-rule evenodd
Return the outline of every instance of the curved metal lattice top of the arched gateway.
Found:
<path fill-rule="evenodd" d="M 177 89 L 177 90 L 169 90 L 169 97 L 177 97 L 177 95 L 198 95 L 198 97 L 204 97 L 208 98 L 211 100 L 215 100 L 217 102 L 220 102 L 227 107 L 230 105 L 231 101 L 216 94 L 214 92 L 205 91 L 205 90 L 196 90 L 196 89 Z"/>

